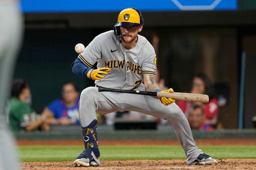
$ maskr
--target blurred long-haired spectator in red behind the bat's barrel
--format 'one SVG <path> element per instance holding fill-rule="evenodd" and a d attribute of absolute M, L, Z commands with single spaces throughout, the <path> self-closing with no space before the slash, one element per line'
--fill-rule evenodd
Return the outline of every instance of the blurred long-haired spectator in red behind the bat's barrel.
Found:
<path fill-rule="evenodd" d="M 216 127 L 219 107 L 217 98 L 213 96 L 212 84 L 209 78 L 202 73 L 197 74 L 193 78 L 191 93 L 207 94 L 209 96 L 209 102 L 204 104 L 200 102 L 179 101 L 178 106 L 180 109 L 188 117 L 188 108 L 193 104 L 199 105 L 204 109 L 205 122 Z"/>

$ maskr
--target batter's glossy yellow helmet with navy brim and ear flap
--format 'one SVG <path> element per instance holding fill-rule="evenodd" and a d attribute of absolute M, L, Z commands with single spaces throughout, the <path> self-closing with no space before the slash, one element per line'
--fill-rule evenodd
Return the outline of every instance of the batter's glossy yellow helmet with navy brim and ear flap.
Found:
<path fill-rule="evenodd" d="M 135 8 L 126 8 L 119 13 L 117 23 L 114 26 L 114 32 L 116 33 L 121 43 L 122 40 L 120 38 L 120 26 L 139 27 L 141 25 L 143 25 L 143 17 L 141 12 Z"/>

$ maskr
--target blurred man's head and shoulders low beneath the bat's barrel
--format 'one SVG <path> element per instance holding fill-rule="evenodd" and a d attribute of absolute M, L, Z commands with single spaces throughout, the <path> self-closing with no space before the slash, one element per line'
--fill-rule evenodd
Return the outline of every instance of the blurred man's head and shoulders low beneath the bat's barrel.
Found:
<path fill-rule="evenodd" d="M 204 110 L 201 106 L 192 105 L 189 107 L 188 122 L 191 129 L 212 130 L 213 127 L 205 123 Z"/>

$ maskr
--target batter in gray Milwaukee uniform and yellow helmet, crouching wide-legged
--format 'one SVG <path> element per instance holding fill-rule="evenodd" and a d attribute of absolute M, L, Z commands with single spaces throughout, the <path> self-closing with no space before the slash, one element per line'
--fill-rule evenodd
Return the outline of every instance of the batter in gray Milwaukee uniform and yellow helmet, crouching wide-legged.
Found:
<path fill-rule="evenodd" d="M 160 92 L 155 82 L 156 54 L 152 45 L 138 32 L 143 17 L 139 10 L 127 8 L 118 15 L 114 30 L 101 33 L 72 64 L 73 73 L 95 80 L 95 87 L 81 93 L 79 118 L 85 150 L 74 161 L 75 166 L 100 165 L 96 112 L 105 115 L 116 111 L 137 111 L 168 119 L 187 156 L 187 163 L 217 164 L 197 148 L 188 120 L 171 98 L 154 98 L 117 92 L 98 92 L 98 86 Z M 97 69 L 92 66 L 97 62 Z M 144 83 L 142 83 L 144 82 Z M 172 89 L 164 92 L 173 92 Z"/>

